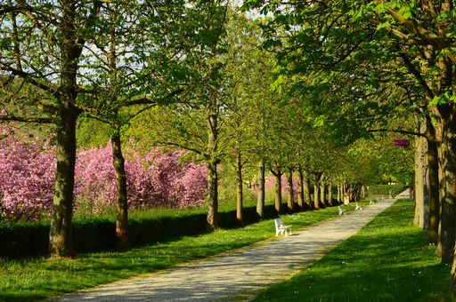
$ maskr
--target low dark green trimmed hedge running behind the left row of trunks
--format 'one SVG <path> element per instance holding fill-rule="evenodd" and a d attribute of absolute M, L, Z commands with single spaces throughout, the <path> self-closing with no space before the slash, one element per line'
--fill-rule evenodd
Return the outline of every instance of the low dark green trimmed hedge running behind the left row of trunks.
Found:
<path fill-rule="evenodd" d="M 265 206 L 265 219 L 277 217 L 273 205 Z M 244 225 L 259 220 L 256 207 L 243 211 Z M 166 242 L 184 235 L 211 231 L 206 214 L 190 214 L 154 219 L 130 219 L 129 237 L 132 246 Z M 219 212 L 219 226 L 239 227 L 236 211 Z M 0 224 L 0 258 L 37 258 L 48 254 L 49 221 Z M 115 250 L 116 222 L 109 219 L 84 219 L 73 222 L 73 237 L 77 253 Z"/>

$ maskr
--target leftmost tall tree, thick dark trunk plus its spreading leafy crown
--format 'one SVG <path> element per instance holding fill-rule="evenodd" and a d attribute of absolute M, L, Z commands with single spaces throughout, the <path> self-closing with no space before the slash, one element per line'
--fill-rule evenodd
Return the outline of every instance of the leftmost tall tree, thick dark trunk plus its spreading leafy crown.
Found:
<path fill-rule="evenodd" d="M 33 105 L 41 110 L 40 115 L 31 115 L 30 111 L 7 113 L 3 119 L 56 124 L 57 172 L 50 230 L 50 252 L 53 257 L 74 255 L 71 215 L 77 117 L 81 113 L 115 113 L 118 108 L 111 105 L 120 99 L 130 99 L 132 95 L 140 94 L 140 91 L 150 94 L 164 91 L 155 80 L 173 72 L 173 78 L 179 78 L 181 69 L 174 68 L 169 60 L 182 59 L 184 56 L 181 53 L 174 58 L 167 56 L 169 52 L 155 51 L 165 49 L 165 43 L 177 43 L 176 48 L 189 43 L 191 49 L 195 50 L 197 45 L 213 39 L 215 32 L 207 28 L 210 28 L 210 21 L 218 20 L 213 18 L 214 13 L 211 14 L 215 6 L 199 1 L 172 4 L 117 1 L 111 4 L 104 1 L 8 0 L 0 4 L 0 87 L 9 89 L 13 84 L 14 89 L 17 88 L 17 95 L 24 87 L 33 86 L 40 93 L 28 95 L 27 102 L 25 98 L 17 98 L 20 101 L 17 105 Z M 103 16 L 111 16 L 112 19 Z M 183 22 L 176 21 L 183 16 L 189 17 L 190 26 L 181 26 Z M 148 31 L 151 24 L 155 28 Z M 167 32 L 167 35 L 157 32 L 158 28 Z M 131 35 L 116 35 L 116 31 Z M 156 36 L 151 38 L 147 36 L 148 33 Z M 183 36 L 190 39 L 182 40 Z M 112 37 L 115 39 L 110 39 Z M 177 42 L 178 39 L 180 41 Z M 127 52 L 134 55 L 126 55 Z M 187 53 L 187 58 L 194 57 Z M 163 64 L 158 67 L 155 64 L 157 62 Z M 118 81 L 120 69 L 123 76 L 127 75 L 126 83 L 137 72 L 154 71 L 157 76 L 129 82 L 124 86 L 128 89 L 121 91 L 122 94 L 118 96 L 119 86 L 115 84 L 110 87 L 106 83 L 115 77 Z M 117 136 L 118 123 L 114 125 Z M 118 137 L 113 141 L 118 141 Z M 116 149 L 120 151 L 118 147 Z M 116 152 L 116 155 L 121 153 Z M 122 174 L 122 161 L 115 163 Z M 123 180 L 119 179 L 119 182 Z M 119 193 L 123 195 L 125 192 Z"/>

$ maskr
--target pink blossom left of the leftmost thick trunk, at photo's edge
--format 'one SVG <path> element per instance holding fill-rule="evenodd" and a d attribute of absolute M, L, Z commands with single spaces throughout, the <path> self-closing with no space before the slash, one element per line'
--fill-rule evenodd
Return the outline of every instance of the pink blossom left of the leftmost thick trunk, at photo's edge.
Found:
<path fill-rule="evenodd" d="M 20 141 L 12 136 L 1 139 L 0 215 L 17 221 L 49 214 L 55 171 L 55 148 L 46 141 Z"/>

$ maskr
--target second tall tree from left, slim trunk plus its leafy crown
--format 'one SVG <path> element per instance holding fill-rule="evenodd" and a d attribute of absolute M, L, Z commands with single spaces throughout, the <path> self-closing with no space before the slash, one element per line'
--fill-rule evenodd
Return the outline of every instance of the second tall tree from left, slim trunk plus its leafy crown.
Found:
<path fill-rule="evenodd" d="M 91 40 L 95 45 L 92 49 L 94 58 L 86 61 L 87 65 L 97 61 L 97 66 L 90 69 L 97 72 L 96 75 L 84 75 L 88 82 L 86 89 L 94 91 L 86 99 L 93 109 L 85 115 L 110 125 L 117 183 L 116 234 L 120 248 L 128 246 L 127 187 L 121 132 L 135 115 L 155 105 L 175 101 L 175 96 L 183 93 L 188 85 L 189 62 L 183 58 L 200 43 L 195 39 L 206 19 L 169 23 L 183 14 L 199 16 L 200 7 L 187 4 L 176 1 L 167 7 L 106 3 L 101 4 L 97 15 L 96 36 Z M 154 68 L 144 68 L 144 65 Z"/>

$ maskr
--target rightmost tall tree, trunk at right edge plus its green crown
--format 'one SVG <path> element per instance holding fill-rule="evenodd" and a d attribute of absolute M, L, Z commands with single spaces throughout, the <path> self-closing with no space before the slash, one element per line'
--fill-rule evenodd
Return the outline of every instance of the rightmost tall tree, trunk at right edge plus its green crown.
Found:
<path fill-rule="evenodd" d="M 352 92 L 365 92 L 352 103 L 358 107 L 356 113 L 362 113 L 362 107 L 365 113 L 386 113 L 388 107 L 410 104 L 404 107 L 419 107 L 425 114 L 438 116 L 436 126 L 441 127 L 443 134 L 439 143 L 444 171 L 440 243 L 443 261 L 451 260 L 456 237 L 454 2 L 304 2 L 285 4 L 287 9 L 280 2 L 252 0 L 248 4 L 273 12 L 269 28 L 273 40 L 268 44 L 279 45 L 284 51 L 281 58 L 288 62 L 289 72 L 301 74 L 324 68 L 360 80 L 347 85 Z M 286 42 L 274 36 L 277 26 L 288 27 L 288 35 L 283 36 Z M 411 103 L 394 101 L 393 93 L 385 93 L 395 90 L 392 85 L 407 87 L 409 83 L 419 88 L 421 94 Z M 345 107 L 348 103 L 339 104 Z M 352 127 L 347 129 L 356 130 L 353 122 L 361 119 L 347 115 L 349 120 Z"/>

